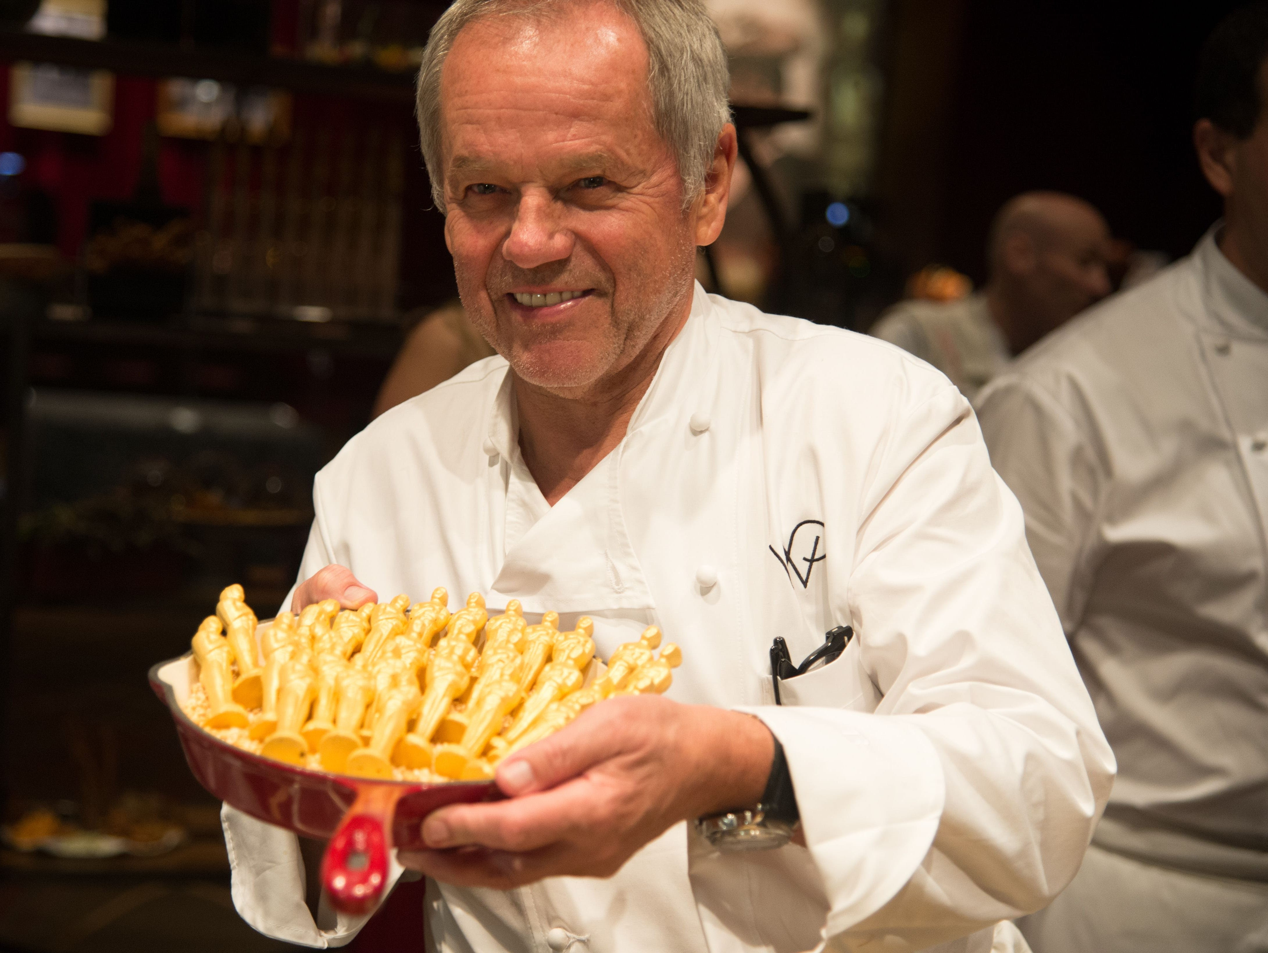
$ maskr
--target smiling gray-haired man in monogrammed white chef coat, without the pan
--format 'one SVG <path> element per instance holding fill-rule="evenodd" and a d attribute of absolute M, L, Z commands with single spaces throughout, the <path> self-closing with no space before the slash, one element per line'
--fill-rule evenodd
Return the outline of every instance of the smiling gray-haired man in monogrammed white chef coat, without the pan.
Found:
<path fill-rule="evenodd" d="M 443 584 L 591 616 L 602 656 L 656 624 L 685 658 L 668 697 L 503 759 L 510 800 L 427 819 L 399 860 L 429 949 L 1013 948 L 1000 921 L 1074 874 L 1112 755 L 960 393 L 694 283 L 735 161 L 704 5 L 459 0 L 418 118 L 498 356 L 321 473 L 295 604 Z M 772 639 L 795 663 L 844 624 L 773 705 Z M 758 803 L 768 850 L 695 826 Z M 252 925 L 355 934 L 304 904 L 293 834 L 224 822 Z"/>

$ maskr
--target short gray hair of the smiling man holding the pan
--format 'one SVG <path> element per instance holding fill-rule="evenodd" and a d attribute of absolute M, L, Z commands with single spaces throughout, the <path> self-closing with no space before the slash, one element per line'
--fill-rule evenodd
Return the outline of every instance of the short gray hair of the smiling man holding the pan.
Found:
<path fill-rule="evenodd" d="M 445 210 L 440 160 L 440 75 L 463 27 L 483 16 L 547 16 L 576 0 L 456 0 L 436 20 L 418 68 L 415 113 L 436 208 Z M 648 49 L 652 118 L 682 176 L 683 208 L 705 188 L 714 148 L 730 122 L 730 79 L 718 28 L 702 0 L 611 0 L 634 20 Z"/>

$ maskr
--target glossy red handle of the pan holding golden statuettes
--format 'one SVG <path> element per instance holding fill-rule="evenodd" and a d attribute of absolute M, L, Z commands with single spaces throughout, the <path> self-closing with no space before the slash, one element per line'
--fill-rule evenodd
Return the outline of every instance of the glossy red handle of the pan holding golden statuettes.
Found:
<path fill-rule="evenodd" d="M 358 786 L 356 801 L 339 822 L 321 862 L 321 882 L 331 906 L 370 914 L 383 899 L 392 850 L 392 815 L 404 784 Z"/>

